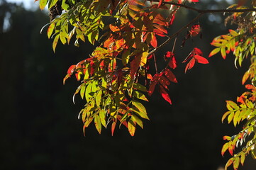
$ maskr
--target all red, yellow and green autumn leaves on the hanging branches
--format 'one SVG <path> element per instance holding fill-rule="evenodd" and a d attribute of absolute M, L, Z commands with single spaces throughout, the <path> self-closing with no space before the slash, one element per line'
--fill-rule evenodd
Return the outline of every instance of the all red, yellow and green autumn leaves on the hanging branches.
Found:
<path fill-rule="evenodd" d="M 61 3 L 60 3 L 61 2 Z M 40 8 L 48 4 L 48 8 L 62 8 L 62 13 L 47 25 L 48 38 L 52 38 L 52 49 L 55 51 L 57 43 L 69 44 L 72 38 L 74 45 L 90 42 L 94 51 L 81 62 L 74 64 L 67 70 L 65 81 L 74 74 L 81 84 L 77 87 L 74 97 L 79 96 L 86 101 L 84 108 L 79 113 L 79 118 L 86 128 L 94 123 L 96 130 L 101 133 L 102 128 L 111 126 L 111 133 L 121 125 L 128 128 L 130 135 L 135 135 L 138 126 L 143 128 L 143 119 L 149 120 L 145 101 L 154 91 L 172 104 L 169 96 L 169 84 L 178 80 L 173 70 L 177 68 L 174 47 L 176 38 L 184 30 L 182 46 L 185 42 L 196 36 L 201 37 L 201 26 L 198 19 L 204 13 L 227 12 L 231 13 L 227 22 L 235 23 L 237 30 L 229 30 L 226 35 L 213 39 L 211 45 L 215 48 L 208 57 L 221 53 L 223 59 L 226 55 L 235 55 L 235 65 L 241 66 L 243 60 L 251 57 L 252 65 L 243 77 L 243 84 L 247 79 L 255 81 L 255 12 L 254 8 L 248 10 L 243 6 L 243 1 L 238 5 L 229 6 L 226 10 L 199 10 L 190 7 L 191 1 L 172 0 L 40 0 Z M 61 6 L 60 6 L 61 4 Z M 252 6 L 255 1 L 252 1 Z M 169 35 L 168 30 L 175 22 L 175 15 L 181 8 L 196 11 L 196 16 L 191 22 L 180 28 L 177 33 Z M 169 13 L 162 15 L 162 11 Z M 243 21 L 242 19 L 243 18 Z M 111 23 L 109 23 L 111 22 Z M 159 38 L 165 38 L 160 43 Z M 164 56 L 157 56 L 156 52 L 164 45 L 174 40 L 172 50 L 165 52 Z M 184 72 L 188 72 L 195 64 L 208 64 L 206 55 L 198 47 L 193 47 L 189 54 L 182 54 L 186 64 Z M 165 60 L 165 67 L 159 69 L 159 58 Z M 152 67 L 153 66 L 153 67 Z M 256 137 L 249 140 L 238 154 L 233 154 L 238 144 L 245 143 L 245 137 L 255 134 L 255 84 L 246 85 L 250 91 L 238 98 L 237 103 L 227 101 L 228 112 L 223 115 L 223 120 L 228 118 L 228 123 L 233 121 L 236 126 L 244 123 L 244 128 L 233 137 L 224 136 L 228 140 L 221 154 L 227 150 L 233 156 L 226 168 L 233 164 L 238 169 L 239 164 L 244 164 L 245 156 L 252 154 L 256 158 Z M 73 98 L 75 101 L 75 98 Z"/>

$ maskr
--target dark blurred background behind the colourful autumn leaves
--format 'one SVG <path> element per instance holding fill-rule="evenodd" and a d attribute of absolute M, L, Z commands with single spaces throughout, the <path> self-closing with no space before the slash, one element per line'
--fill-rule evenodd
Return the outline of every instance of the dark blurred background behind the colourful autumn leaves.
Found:
<path fill-rule="evenodd" d="M 204 52 L 217 35 L 228 33 L 223 16 L 200 18 L 203 39 L 188 40 L 179 47 L 186 31 L 179 36 L 175 53 L 179 62 L 174 70 L 179 81 L 171 84 L 172 106 L 157 92 L 147 103 L 150 121 L 144 129 L 137 128 L 134 137 L 121 127 L 111 137 L 111 130 L 96 132 L 94 125 L 82 132 L 82 120 L 77 119 L 82 101 L 72 94 L 79 85 L 74 78 L 62 79 L 71 64 L 91 53 L 89 44 L 57 45 L 52 52 L 52 40 L 46 30 L 47 13 L 38 9 L 0 0 L 0 169 L 184 169 L 213 170 L 225 166 L 228 153 L 221 157 L 224 135 L 234 135 L 233 128 L 221 117 L 226 112 L 226 100 L 235 101 L 245 91 L 241 85 L 243 68 L 235 69 L 234 57 L 223 60 L 220 55 L 209 58 L 210 64 L 196 64 L 184 74 L 182 60 L 194 47 Z M 226 8 L 225 2 L 205 1 L 198 8 Z M 196 13 L 178 13 L 173 30 L 184 26 Z M 9 23 L 9 26 L 6 25 Z M 4 29 L 3 29 L 4 28 Z M 157 60 L 172 43 L 157 53 Z M 255 170 L 250 156 L 240 169 Z"/>

